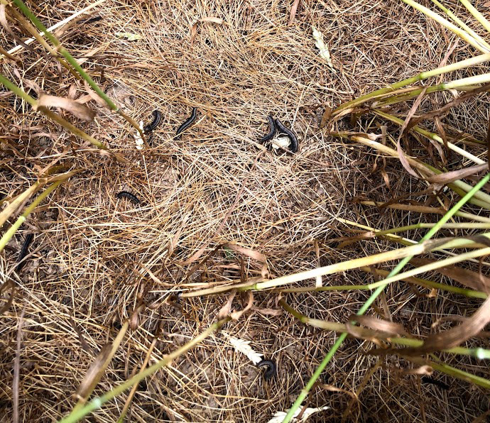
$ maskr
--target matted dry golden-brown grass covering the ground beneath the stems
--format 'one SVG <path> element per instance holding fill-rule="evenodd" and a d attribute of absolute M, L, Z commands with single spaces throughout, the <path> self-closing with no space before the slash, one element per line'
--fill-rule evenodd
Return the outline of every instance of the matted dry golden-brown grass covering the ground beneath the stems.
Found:
<path fill-rule="evenodd" d="M 98 393 L 140 368 L 154 336 L 158 341 L 150 362 L 214 322 L 225 296 L 147 306 L 178 290 L 260 275 L 261 263 L 236 253 L 218 249 L 206 256 L 222 243 L 261 251 L 271 275 L 281 276 L 392 247 L 385 241 L 366 241 L 336 250 L 328 240 L 347 232 L 336 216 L 379 229 L 418 221 L 419 214 L 380 213 L 351 202 L 360 196 L 386 201 L 425 187 L 388 159 L 383 165 L 391 182 L 388 189 L 379 167 L 372 172 L 382 158 L 367 148 L 339 143 L 318 124 L 326 104 L 437 67 L 454 38 L 396 1 L 300 2 L 303 6 L 291 26 L 290 5 L 284 3 L 293 1 L 108 0 L 99 8 L 102 21 L 77 24 L 63 33 L 65 48 L 75 57 L 89 56 L 85 68 L 127 114 L 146 122 L 153 109 L 162 111 L 153 148 L 143 153 L 134 148 L 129 126 L 121 126 L 121 119 L 104 109 L 99 109 L 95 123 L 85 125 L 87 133 L 123 154 L 129 165 L 116 164 L 92 148 L 74 153 L 70 147 L 76 148 L 77 140 L 18 104 L 14 113 L 13 95 L 0 94 L 2 196 L 26 189 L 55 159 L 83 170 L 29 219 L 0 256 L 0 273 L 11 275 L 17 285 L 13 306 L 0 324 L 0 415 L 5 421 L 13 415 L 18 353 L 20 419 L 51 422 L 71 410 L 75 402 L 70 395 L 90 363 L 135 309 L 140 310 L 138 326 L 111 361 Z M 30 6 L 53 24 L 86 5 L 47 1 Z M 198 23 L 190 45 L 193 23 L 207 16 L 223 18 L 224 23 Z M 318 57 L 311 25 L 325 34 L 336 73 Z M 123 40 L 114 35 L 118 31 L 142 38 Z M 1 45 L 13 45 L 8 35 L 2 36 Z M 49 94 L 67 96 L 72 86 L 78 96 L 85 94 L 84 87 L 66 72 L 60 76 L 58 65 L 39 53 L 36 46 L 33 53 L 22 53 L 21 65 L 4 62 L 2 72 L 17 82 L 34 80 Z M 467 48 L 458 47 L 450 60 L 465 55 Z M 199 109 L 197 123 L 174 139 L 193 106 Z M 298 155 L 264 153 L 256 144 L 267 130 L 268 114 L 298 133 Z M 447 124 L 482 138 L 485 118 L 481 99 L 474 99 L 451 111 Z M 122 189 L 137 194 L 141 203 L 116 199 Z M 36 233 L 31 260 L 17 278 L 16 251 L 30 232 Z M 418 239 L 419 234 L 410 237 Z M 202 256 L 206 260 L 185 265 L 207 242 Z M 350 272 L 335 278 L 364 283 L 366 275 Z M 364 300 L 362 292 L 288 296 L 288 302 L 309 317 L 338 322 Z M 405 284 L 391 285 L 386 302 L 393 317 L 414 334 L 428 334 L 430 324 L 442 316 L 472 314 L 479 304 L 474 301 L 474 308 L 468 308 L 465 302 L 462 310 L 455 295 L 418 297 Z M 381 302 L 378 306 L 382 308 Z M 17 352 L 23 307 L 23 341 Z M 240 308 L 240 298 L 234 307 Z M 128 421 L 266 422 L 276 410 L 288 409 L 335 336 L 288 315 L 267 313 L 278 308 L 275 295 L 256 293 L 254 309 L 226 328 L 277 361 L 276 380 L 264 383 L 246 357 L 216 334 L 140 384 Z M 488 346 L 484 341 L 481 345 Z M 347 421 L 445 422 L 451 416 L 453 421 L 471 422 L 489 408 L 479 388 L 440 376 L 450 390 L 420 385 L 416 376 L 394 370 L 410 367 L 408 362 L 394 356 L 378 362 L 363 355 L 368 349 L 369 344 L 349 339 L 322 376 L 323 383 L 356 392 L 359 402 L 349 405 L 346 393 L 317 388 L 310 406 L 330 405 L 332 410 L 311 422 L 339 421 L 346 410 L 352 412 Z M 477 368 L 469 358 L 448 356 L 447 363 L 489 377 L 488 369 Z M 377 367 L 371 375 L 372 366 Z M 125 397 L 89 421 L 115 421 Z"/>

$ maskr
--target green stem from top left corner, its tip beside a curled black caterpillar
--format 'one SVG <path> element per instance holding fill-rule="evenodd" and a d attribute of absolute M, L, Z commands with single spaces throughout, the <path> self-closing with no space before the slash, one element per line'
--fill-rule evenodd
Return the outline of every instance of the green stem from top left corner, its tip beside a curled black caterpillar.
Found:
<path fill-rule="evenodd" d="M 55 37 L 50 31 L 48 31 L 48 28 L 46 28 L 41 21 L 34 15 L 34 13 L 31 12 L 31 10 L 24 4 L 22 0 L 12 0 L 14 4 L 18 7 L 18 9 L 21 9 L 22 13 L 29 18 L 29 20 L 38 28 L 38 30 L 45 35 L 48 40 L 57 48 L 58 52 L 65 57 L 66 61 L 72 65 L 72 67 L 80 74 L 80 76 L 87 81 L 87 84 L 96 92 L 99 97 L 101 97 L 109 106 L 109 109 L 112 111 L 116 112 L 119 114 L 123 119 L 125 119 L 131 126 L 133 126 L 136 131 L 140 134 L 141 138 L 143 141 L 145 141 L 145 135 L 143 133 L 143 130 L 140 128 L 138 123 L 134 121 L 134 119 L 131 119 L 131 117 L 127 116 L 124 114 L 123 111 L 119 110 L 119 107 L 114 104 L 114 102 L 107 96 L 107 94 L 99 88 L 99 86 L 94 82 L 94 80 L 83 70 L 83 68 L 78 64 L 77 60 L 70 55 L 70 53 L 67 52 L 67 50 L 61 45 L 60 41 L 58 38 Z M 148 144 L 146 143 L 148 146 Z"/>

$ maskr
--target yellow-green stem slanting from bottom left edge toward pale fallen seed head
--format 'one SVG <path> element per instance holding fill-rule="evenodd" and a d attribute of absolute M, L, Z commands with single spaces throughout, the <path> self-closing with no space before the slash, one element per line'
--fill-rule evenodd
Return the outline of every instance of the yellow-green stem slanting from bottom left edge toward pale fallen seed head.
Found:
<path fill-rule="evenodd" d="M 210 334 L 212 334 L 212 332 L 219 329 L 225 323 L 229 322 L 230 319 L 231 318 L 227 317 L 226 319 L 222 319 L 219 322 L 212 324 L 211 326 L 209 326 L 209 328 L 207 328 L 205 331 L 203 331 L 202 334 L 197 335 L 194 339 L 192 339 L 192 341 L 187 342 L 187 344 L 185 344 L 184 346 L 181 346 L 177 350 L 173 351 L 173 353 L 168 354 L 168 356 L 166 356 L 165 358 L 162 358 L 160 361 L 158 361 L 158 363 L 155 363 L 155 364 L 153 364 L 153 366 L 150 366 L 150 367 L 146 368 L 145 370 L 141 371 L 140 373 L 137 373 L 132 378 L 129 378 L 124 383 L 121 383 L 120 385 L 116 386 L 116 388 L 114 388 L 113 390 L 106 392 L 104 395 L 102 395 L 100 397 L 95 397 L 90 402 L 87 402 L 85 407 L 76 410 L 76 412 L 75 412 L 75 410 L 72 411 L 66 417 L 61 419 L 60 423 L 78 422 L 80 419 L 85 417 L 87 414 L 93 412 L 94 410 L 99 409 L 106 402 L 113 400 L 117 395 L 120 395 L 122 392 L 131 388 L 131 386 L 135 385 L 136 383 L 141 382 L 141 380 L 143 380 L 144 378 L 146 378 L 149 375 L 152 375 L 153 373 L 155 373 L 160 368 L 167 366 L 173 360 L 175 360 L 175 358 L 178 358 L 178 356 L 182 355 L 183 353 L 186 353 L 191 348 L 193 348 L 197 344 L 199 344 L 201 341 L 204 341 L 207 338 L 207 336 L 209 336 Z"/>

